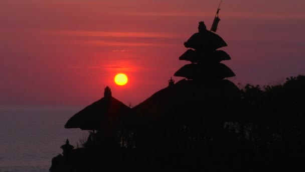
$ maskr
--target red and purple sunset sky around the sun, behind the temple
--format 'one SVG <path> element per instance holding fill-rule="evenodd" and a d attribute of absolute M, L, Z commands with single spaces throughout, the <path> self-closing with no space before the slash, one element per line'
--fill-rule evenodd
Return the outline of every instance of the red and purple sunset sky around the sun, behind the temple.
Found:
<path fill-rule="evenodd" d="M 211 27 L 215 0 L 0 0 L 0 105 L 135 106 L 188 61 L 184 42 Z M 217 34 L 239 87 L 305 74 L 305 1 L 223 0 Z M 128 83 L 114 83 L 116 73 Z M 174 77 L 177 81 L 183 77 Z M 241 86 L 240 86 L 241 85 Z"/>

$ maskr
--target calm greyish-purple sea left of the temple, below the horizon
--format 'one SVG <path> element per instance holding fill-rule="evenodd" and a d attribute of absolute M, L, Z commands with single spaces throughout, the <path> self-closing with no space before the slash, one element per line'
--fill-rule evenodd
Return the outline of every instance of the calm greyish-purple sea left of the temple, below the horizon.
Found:
<path fill-rule="evenodd" d="M 66 139 L 76 147 L 87 131 L 65 129 L 84 107 L 0 106 L 0 172 L 49 171 Z"/>

